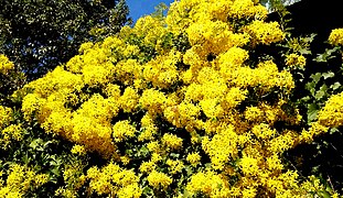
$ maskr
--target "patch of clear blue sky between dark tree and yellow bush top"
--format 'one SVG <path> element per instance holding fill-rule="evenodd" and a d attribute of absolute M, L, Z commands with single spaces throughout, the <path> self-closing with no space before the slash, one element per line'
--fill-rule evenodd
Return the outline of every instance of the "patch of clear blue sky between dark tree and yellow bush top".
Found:
<path fill-rule="evenodd" d="M 152 13 L 159 3 L 164 2 L 169 6 L 174 0 L 127 0 L 126 2 L 130 9 L 129 15 L 136 22 L 140 16 Z"/>

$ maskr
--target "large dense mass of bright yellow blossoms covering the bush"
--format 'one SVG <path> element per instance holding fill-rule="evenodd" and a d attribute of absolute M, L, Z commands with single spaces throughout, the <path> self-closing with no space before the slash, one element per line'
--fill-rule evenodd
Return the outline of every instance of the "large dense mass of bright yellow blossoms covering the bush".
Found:
<path fill-rule="evenodd" d="M 309 130 L 291 128 L 302 118 L 285 108 L 296 86 L 289 67 L 306 59 L 256 58 L 258 45 L 286 36 L 266 15 L 253 0 L 175 1 L 165 19 L 144 16 L 85 43 L 79 55 L 26 85 L 24 119 L 74 143 L 73 154 L 106 161 L 77 176 L 89 194 L 307 197 L 315 179 L 300 180 L 282 154 L 342 125 L 342 96 Z M 10 112 L 0 106 L 0 129 L 19 140 Z M 64 172 L 65 180 L 72 173 Z"/>

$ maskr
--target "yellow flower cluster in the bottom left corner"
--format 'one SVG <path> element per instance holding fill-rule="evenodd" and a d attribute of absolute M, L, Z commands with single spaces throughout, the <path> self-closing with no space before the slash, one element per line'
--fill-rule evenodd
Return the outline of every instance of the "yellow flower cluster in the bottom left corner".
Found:
<path fill-rule="evenodd" d="M 49 175 L 37 174 L 26 166 L 13 164 L 7 170 L 7 179 L 2 180 L 0 172 L 0 197 L 25 197 L 30 189 L 36 189 L 49 182 Z"/>

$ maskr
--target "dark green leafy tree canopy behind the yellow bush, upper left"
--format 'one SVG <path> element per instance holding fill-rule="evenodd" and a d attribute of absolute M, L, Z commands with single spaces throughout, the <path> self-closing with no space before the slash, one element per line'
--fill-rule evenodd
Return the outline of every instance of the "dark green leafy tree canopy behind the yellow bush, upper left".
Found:
<path fill-rule="evenodd" d="M 0 54 L 36 79 L 81 43 L 118 32 L 128 12 L 125 0 L 0 0 Z"/>

